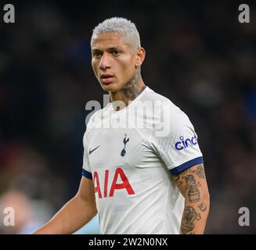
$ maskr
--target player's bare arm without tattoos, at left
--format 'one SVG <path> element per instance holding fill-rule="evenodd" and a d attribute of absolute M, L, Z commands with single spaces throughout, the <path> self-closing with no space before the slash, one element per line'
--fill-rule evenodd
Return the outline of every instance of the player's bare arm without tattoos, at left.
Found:
<path fill-rule="evenodd" d="M 34 234 L 72 234 L 92 220 L 97 213 L 92 180 L 81 178 L 78 194 Z"/>

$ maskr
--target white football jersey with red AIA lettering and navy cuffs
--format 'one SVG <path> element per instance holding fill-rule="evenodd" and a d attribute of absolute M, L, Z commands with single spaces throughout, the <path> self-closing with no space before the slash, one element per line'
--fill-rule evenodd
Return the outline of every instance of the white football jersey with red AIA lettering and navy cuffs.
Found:
<path fill-rule="evenodd" d="M 101 234 L 179 234 L 185 201 L 170 177 L 203 162 L 184 112 L 146 87 L 120 111 L 95 112 L 83 142 Z"/>

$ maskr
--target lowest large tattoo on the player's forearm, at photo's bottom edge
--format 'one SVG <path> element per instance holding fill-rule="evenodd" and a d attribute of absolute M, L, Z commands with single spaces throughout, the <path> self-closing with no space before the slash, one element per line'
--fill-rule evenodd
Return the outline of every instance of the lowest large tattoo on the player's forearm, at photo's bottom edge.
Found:
<path fill-rule="evenodd" d="M 182 234 L 187 234 L 194 229 L 195 227 L 193 223 L 194 220 L 201 220 L 200 213 L 197 213 L 192 206 L 187 206 L 184 209 L 184 213 L 182 217 L 182 227 L 181 227 Z"/>

